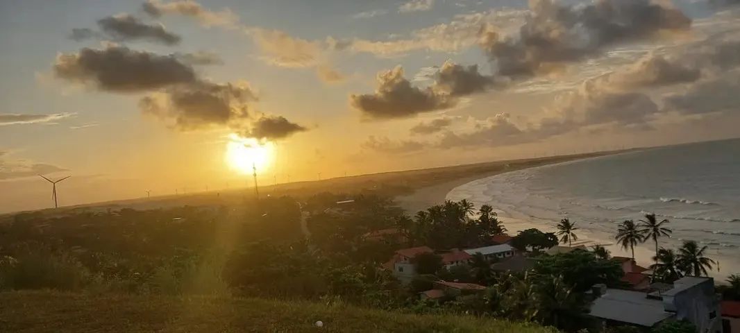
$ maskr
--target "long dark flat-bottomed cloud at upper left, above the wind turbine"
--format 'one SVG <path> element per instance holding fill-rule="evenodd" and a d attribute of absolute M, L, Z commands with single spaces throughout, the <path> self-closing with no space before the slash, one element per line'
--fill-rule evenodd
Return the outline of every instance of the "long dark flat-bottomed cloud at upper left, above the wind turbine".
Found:
<path fill-rule="evenodd" d="M 110 45 L 58 54 L 53 71 L 58 78 L 112 92 L 141 92 L 195 81 L 192 67 L 175 55 Z"/>

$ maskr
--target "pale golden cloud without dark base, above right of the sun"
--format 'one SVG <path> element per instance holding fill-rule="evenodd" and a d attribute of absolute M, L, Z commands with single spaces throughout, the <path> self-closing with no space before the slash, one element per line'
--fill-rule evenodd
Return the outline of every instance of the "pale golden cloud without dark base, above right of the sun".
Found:
<path fill-rule="evenodd" d="M 320 43 L 290 36 L 280 30 L 249 28 L 257 47 L 266 55 L 265 60 L 279 67 L 313 67 L 322 53 Z"/>

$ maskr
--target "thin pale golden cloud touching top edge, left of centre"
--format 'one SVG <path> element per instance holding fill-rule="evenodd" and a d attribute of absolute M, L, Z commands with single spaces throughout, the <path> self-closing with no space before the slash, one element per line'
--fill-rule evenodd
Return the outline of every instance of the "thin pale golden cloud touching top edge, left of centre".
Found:
<path fill-rule="evenodd" d="M 201 4 L 192 0 L 169 2 L 148 0 L 142 4 L 141 8 L 152 17 L 160 17 L 164 14 L 188 16 L 198 20 L 204 27 L 236 27 L 239 22 L 238 16 L 229 9 L 214 12 L 206 10 Z"/>

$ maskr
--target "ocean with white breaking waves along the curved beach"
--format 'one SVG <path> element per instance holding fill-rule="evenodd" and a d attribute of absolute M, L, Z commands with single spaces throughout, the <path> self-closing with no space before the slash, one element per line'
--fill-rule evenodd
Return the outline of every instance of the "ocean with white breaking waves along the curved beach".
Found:
<path fill-rule="evenodd" d="M 458 186 L 447 199 L 488 203 L 510 233 L 554 231 L 561 218 L 576 222 L 578 243 L 600 243 L 612 255 L 617 225 L 647 212 L 670 221 L 676 249 L 682 240 L 708 247 L 719 261 L 712 275 L 740 273 L 740 139 L 658 147 L 507 172 Z M 649 265 L 653 243 L 636 248 Z"/>

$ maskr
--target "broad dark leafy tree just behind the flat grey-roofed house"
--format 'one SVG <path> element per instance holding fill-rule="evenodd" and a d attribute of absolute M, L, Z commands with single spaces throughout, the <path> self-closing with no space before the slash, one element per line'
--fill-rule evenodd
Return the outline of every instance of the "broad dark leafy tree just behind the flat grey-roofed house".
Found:
<path fill-rule="evenodd" d="M 619 280 L 624 275 L 617 260 L 601 260 L 593 252 L 582 249 L 539 257 L 534 272 L 537 276 L 562 276 L 576 292 L 585 292 L 596 283 L 620 286 Z"/>

